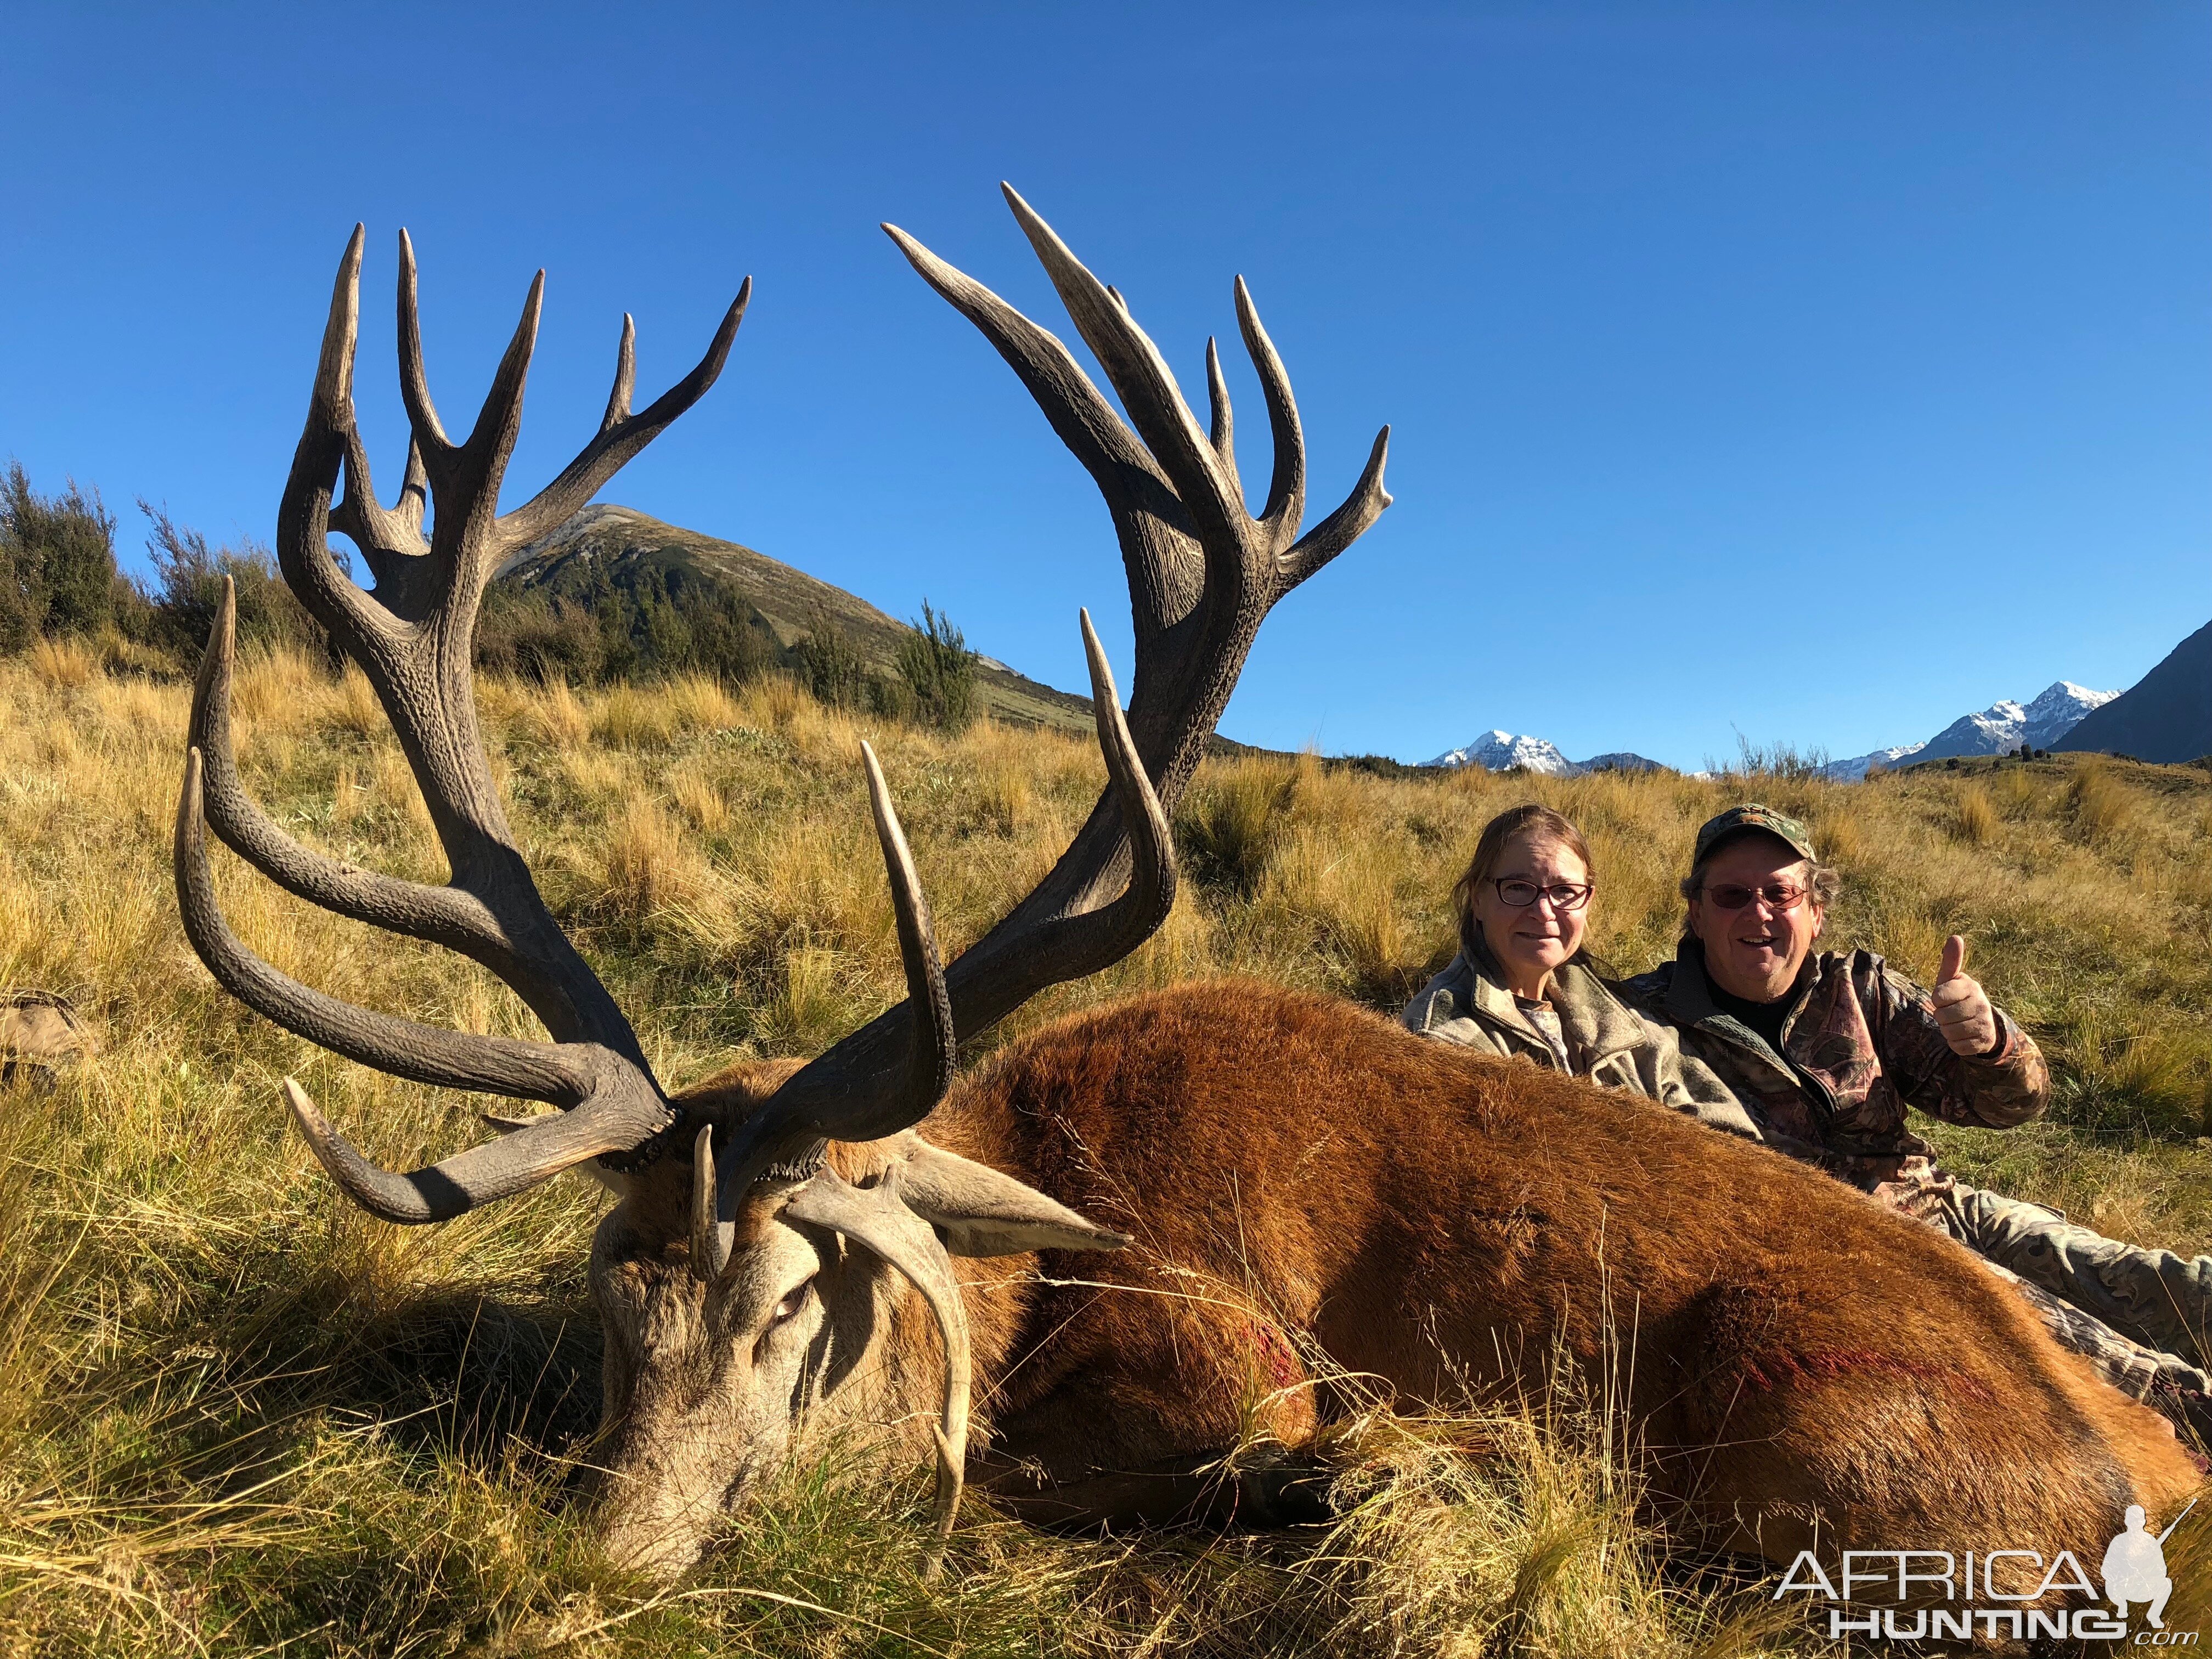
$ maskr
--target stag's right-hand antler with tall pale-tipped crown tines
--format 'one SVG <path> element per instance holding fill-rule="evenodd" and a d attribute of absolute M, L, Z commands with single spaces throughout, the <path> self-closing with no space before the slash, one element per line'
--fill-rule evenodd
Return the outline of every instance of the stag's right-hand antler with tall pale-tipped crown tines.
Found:
<path fill-rule="evenodd" d="M 1168 814 L 1228 708 L 1261 622 L 1389 507 L 1383 489 L 1389 427 L 1383 427 L 1345 504 L 1298 533 L 1305 515 L 1298 407 L 1239 276 L 1237 323 L 1274 431 L 1274 476 L 1254 515 L 1237 478 L 1230 398 L 1212 341 L 1206 343 L 1208 431 L 1121 294 L 1099 283 L 1013 186 L 1002 190 L 1135 431 L 1046 330 L 907 232 L 896 226 L 885 232 L 1013 365 L 1106 495 L 1128 568 L 1137 679 L 1124 721 L 1086 615 L 1091 695 L 1110 781 L 1060 863 L 947 969 L 951 1026 L 962 1042 L 1044 987 L 1128 956 L 1166 920 L 1175 902 Z M 905 1115 L 911 1104 L 887 1086 L 914 1033 L 911 1002 L 887 1011 L 796 1073 L 730 1137 L 719 1159 L 717 1256 L 728 1252 L 737 1210 L 761 1170 L 810 1164 L 825 1139 L 876 1139 L 916 1121 Z"/>

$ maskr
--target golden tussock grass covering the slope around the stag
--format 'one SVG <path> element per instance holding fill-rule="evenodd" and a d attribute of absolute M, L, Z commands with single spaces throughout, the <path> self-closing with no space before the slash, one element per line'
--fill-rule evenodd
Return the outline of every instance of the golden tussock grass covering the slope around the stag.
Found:
<path fill-rule="evenodd" d="M 546 894 L 664 1077 L 814 1051 L 896 993 L 863 728 L 781 681 L 482 701 Z M 334 1062 L 215 991 L 166 869 L 184 714 L 184 686 L 75 650 L 0 664 L 0 984 L 69 991 L 106 1040 L 51 1091 L 0 1091 L 0 1655 L 1809 1650 L 1761 1635 L 1772 1608 L 1743 1586 L 1661 1557 L 1606 1425 L 1564 1394 L 1548 1422 L 1354 1425 L 1358 1504 L 1325 1537 L 1093 1544 L 971 1504 L 925 1586 L 925 1471 L 885 1502 L 834 1447 L 675 1597 L 611 1575 L 566 1504 L 597 1402 L 582 1265 L 604 1201 L 560 1181 L 403 1230 L 321 1179 L 276 1104 L 288 1071 L 385 1164 L 473 1139 L 480 1102 Z M 358 679 L 263 661 L 239 714 L 248 776 L 296 834 L 438 878 Z M 1057 732 L 878 737 L 958 951 L 1046 867 L 1102 768 Z M 2205 785 L 2081 761 L 1756 785 L 1836 849 L 1838 938 L 1927 975 L 1947 931 L 1971 933 L 2053 1051 L 2059 1121 L 1942 1130 L 1951 1161 L 2190 1250 L 2212 1245 Z M 1013 1029 L 1210 971 L 1391 1004 L 1447 949 L 1482 821 L 1531 794 L 1590 834 L 1601 949 L 1661 956 L 1674 863 L 1728 785 L 1210 761 L 1181 825 L 1201 880 L 1168 927 Z M 336 995 L 531 1029 L 467 962 L 310 911 L 228 854 L 219 885 L 257 949 Z"/>

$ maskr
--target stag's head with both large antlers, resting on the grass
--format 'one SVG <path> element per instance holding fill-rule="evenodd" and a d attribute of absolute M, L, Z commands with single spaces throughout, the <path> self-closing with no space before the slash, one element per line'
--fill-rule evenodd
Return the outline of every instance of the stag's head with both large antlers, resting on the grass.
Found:
<path fill-rule="evenodd" d="M 911 1416 L 922 1400 L 938 1416 L 931 1438 L 942 1548 L 960 1495 L 969 1409 L 967 1316 L 951 1256 L 1110 1250 L 1126 1237 L 1009 1175 L 929 1146 L 911 1128 L 945 1095 L 958 1037 L 989 1029 L 1048 984 L 1119 960 L 1168 916 L 1168 812 L 1261 619 L 1389 504 L 1385 427 L 1352 498 L 1298 535 L 1298 414 L 1239 281 L 1237 314 L 1274 429 L 1267 502 L 1250 513 L 1212 343 L 1208 431 L 1121 296 L 1084 270 L 1011 188 L 1006 199 L 1135 431 L 1057 338 L 905 232 L 885 230 L 991 338 L 1106 495 L 1130 577 L 1137 679 L 1124 717 L 1084 615 L 1108 787 L 1046 878 L 951 969 L 938 962 L 929 905 L 883 772 L 860 745 L 907 998 L 816 1060 L 741 1068 L 710 1086 L 664 1093 L 630 1024 L 531 880 L 491 781 L 471 688 L 476 608 L 491 575 L 584 507 L 706 394 L 743 319 L 750 279 L 706 358 L 639 414 L 630 411 L 633 330 L 624 319 L 599 434 L 544 491 L 500 515 L 544 274 L 531 285 L 476 429 L 456 445 L 429 398 L 414 252 L 403 232 L 398 349 L 411 445 L 398 502 L 387 509 L 369 482 L 352 405 L 363 246 L 356 226 L 279 509 L 279 564 L 392 719 L 451 867 L 445 887 L 354 869 L 279 830 L 246 796 L 232 759 L 228 597 L 201 661 L 175 867 L 186 933 L 215 978 L 276 1024 L 358 1064 L 557 1108 L 489 1119 L 502 1130 L 498 1139 L 400 1175 L 361 1157 L 285 1079 L 292 1117 L 323 1168 L 347 1197 L 396 1223 L 447 1221 L 571 1168 L 617 1194 L 593 1245 L 591 1281 L 606 1323 L 608 1542 L 639 1566 L 688 1564 L 801 1420 Z M 425 538 L 427 500 L 436 513 Z M 361 588 L 338 568 L 327 542 L 334 529 L 361 549 L 374 586 Z M 310 902 L 482 962 L 513 987 L 551 1040 L 440 1031 L 336 1002 L 279 973 L 237 940 L 217 909 L 210 827 Z M 920 1321 L 936 1327 L 936 1345 L 916 1340 Z"/>

